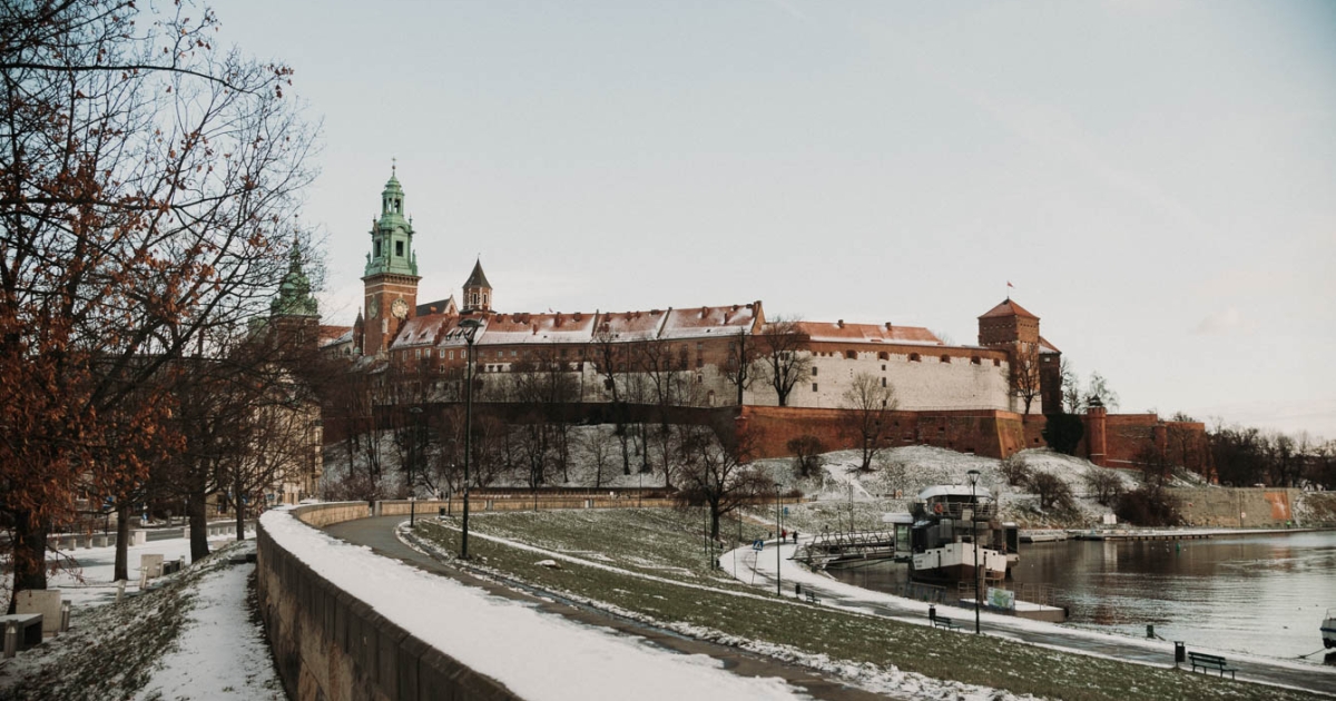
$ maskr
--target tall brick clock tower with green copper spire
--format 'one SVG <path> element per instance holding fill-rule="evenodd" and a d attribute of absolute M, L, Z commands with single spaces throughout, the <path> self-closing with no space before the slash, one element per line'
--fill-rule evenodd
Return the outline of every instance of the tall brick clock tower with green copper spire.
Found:
<path fill-rule="evenodd" d="M 403 216 L 403 188 L 390 172 L 381 192 L 381 218 L 371 224 L 371 251 L 366 254 L 362 283 L 366 292 L 362 353 L 385 353 L 399 326 L 417 308 L 417 254 L 413 222 Z"/>

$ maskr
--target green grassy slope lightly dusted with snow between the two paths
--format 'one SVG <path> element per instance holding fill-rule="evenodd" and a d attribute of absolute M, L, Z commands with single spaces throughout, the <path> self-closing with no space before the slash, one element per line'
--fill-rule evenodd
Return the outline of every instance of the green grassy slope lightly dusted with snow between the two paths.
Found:
<path fill-rule="evenodd" d="M 636 573 L 717 588 L 719 592 L 684 588 L 569 562 L 552 569 L 537 565 L 542 555 L 532 551 L 481 538 L 470 542 L 470 551 L 481 565 L 544 589 L 603 602 L 679 630 L 684 625 L 704 629 L 696 633 L 724 642 L 778 645 L 779 657 L 826 656 L 832 662 L 823 665 L 828 669 L 847 666 L 843 662 L 862 669 L 894 666 L 1017 694 L 1070 700 L 1311 697 L 756 596 L 755 589 L 739 589 L 729 578 L 705 567 L 699 510 L 486 514 L 470 519 L 470 527 Z M 751 526 L 744 537 L 754 537 L 758 530 Z M 420 533 L 446 550 L 458 550 L 458 533 L 452 527 L 428 522 Z"/>

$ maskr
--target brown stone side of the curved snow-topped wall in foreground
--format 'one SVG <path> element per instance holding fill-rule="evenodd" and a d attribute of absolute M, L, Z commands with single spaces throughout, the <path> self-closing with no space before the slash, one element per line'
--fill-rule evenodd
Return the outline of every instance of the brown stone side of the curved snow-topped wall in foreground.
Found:
<path fill-rule="evenodd" d="M 295 518 L 313 526 L 369 514 L 366 503 L 293 510 Z M 263 526 L 257 579 L 261 616 L 289 698 L 518 698 L 330 583 Z"/>

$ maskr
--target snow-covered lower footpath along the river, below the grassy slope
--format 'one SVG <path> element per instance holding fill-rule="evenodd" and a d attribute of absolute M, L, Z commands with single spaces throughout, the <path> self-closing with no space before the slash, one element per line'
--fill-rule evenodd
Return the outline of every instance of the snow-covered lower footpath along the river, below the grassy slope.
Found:
<path fill-rule="evenodd" d="M 779 558 L 770 555 L 772 543 L 766 543 L 766 557 L 755 557 L 748 549 L 741 549 L 743 555 L 737 561 L 735 577 L 743 581 L 755 579 L 758 586 L 770 592 L 775 590 L 775 563 L 782 562 L 780 577 L 784 594 L 792 596 L 794 583 L 802 583 L 804 590 L 812 590 L 822 598 L 822 604 L 839 606 L 850 610 L 859 610 L 895 618 L 916 625 L 929 625 L 927 604 L 911 601 L 890 594 L 870 592 L 852 585 L 838 582 L 824 574 L 818 574 L 800 567 L 791 559 L 794 545 L 784 545 Z M 720 562 L 731 565 L 725 553 Z M 770 583 L 764 583 L 770 582 Z M 950 617 L 965 629 L 962 634 L 974 633 L 974 610 L 955 606 L 938 606 L 938 613 Z M 1039 624 L 1037 621 L 1017 620 L 1010 616 L 985 613 L 981 616 L 981 632 L 989 636 L 1013 638 L 1034 645 L 1043 645 L 1059 650 L 1140 662 L 1156 666 L 1173 666 L 1173 642 L 1148 641 L 1121 636 L 1109 636 L 1089 630 L 1073 629 L 1054 624 Z M 1196 648 L 1193 648 L 1196 649 Z M 1256 681 L 1291 686 L 1324 694 L 1336 694 L 1336 668 L 1308 665 L 1301 662 L 1288 662 L 1283 660 L 1268 660 L 1259 656 L 1244 656 L 1228 650 L 1197 650 L 1224 656 L 1229 666 L 1237 669 L 1238 681 Z M 1190 669 L 1184 662 L 1185 669 Z"/>

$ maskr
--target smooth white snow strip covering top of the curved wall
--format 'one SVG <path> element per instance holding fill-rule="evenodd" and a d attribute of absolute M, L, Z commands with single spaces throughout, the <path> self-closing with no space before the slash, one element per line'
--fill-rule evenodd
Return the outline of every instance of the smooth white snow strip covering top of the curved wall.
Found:
<path fill-rule="evenodd" d="M 778 678 L 743 678 L 705 656 L 683 656 L 592 629 L 375 555 L 285 511 L 265 530 L 322 577 L 409 633 L 533 701 L 802 698 Z M 424 606 L 422 602 L 432 602 Z"/>

